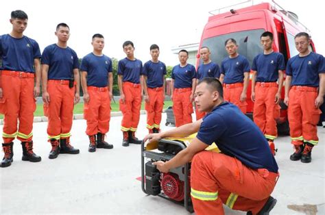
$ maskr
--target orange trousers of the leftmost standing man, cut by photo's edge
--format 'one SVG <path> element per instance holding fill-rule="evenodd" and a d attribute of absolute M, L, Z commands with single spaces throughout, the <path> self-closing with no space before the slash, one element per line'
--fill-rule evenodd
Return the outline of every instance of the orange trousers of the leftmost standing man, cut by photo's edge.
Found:
<path fill-rule="evenodd" d="M 3 97 L 0 99 L 0 109 L 1 113 L 5 115 L 3 118 L 3 142 L 12 142 L 16 137 L 22 142 L 32 141 L 36 110 L 34 73 L 2 71 L 1 74 Z"/>

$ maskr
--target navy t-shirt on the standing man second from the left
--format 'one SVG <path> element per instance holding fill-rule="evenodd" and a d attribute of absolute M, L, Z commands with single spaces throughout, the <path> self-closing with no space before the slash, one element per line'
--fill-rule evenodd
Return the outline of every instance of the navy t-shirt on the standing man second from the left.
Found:
<path fill-rule="evenodd" d="M 73 69 L 79 68 L 77 53 L 70 47 L 64 49 L 56 44 L 49 45 L 44 49 L 41 62 L 49 65 L 47 79 L 72 79 Z"/>

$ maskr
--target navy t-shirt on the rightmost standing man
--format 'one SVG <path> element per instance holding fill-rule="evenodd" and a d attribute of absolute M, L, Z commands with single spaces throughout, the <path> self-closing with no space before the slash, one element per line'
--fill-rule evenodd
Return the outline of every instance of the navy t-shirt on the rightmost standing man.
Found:
<path fill-rule="evenodd" d="M 290 58 L 285 74 L 292 76 L 292 86 L 313 86 L 320 84 L 320 73 L 325 73 L 324 57 L 315 52 L 300 57 Z"/>

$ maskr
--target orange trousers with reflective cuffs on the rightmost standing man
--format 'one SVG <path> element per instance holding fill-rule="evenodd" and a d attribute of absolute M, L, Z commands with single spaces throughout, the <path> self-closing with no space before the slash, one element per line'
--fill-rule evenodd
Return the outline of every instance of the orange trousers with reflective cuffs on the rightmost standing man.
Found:
<path fill-rule="evenodd" d="M 289 91 L 288 119 L 292 144 L 318 143 L 317 123 L 320 109 L 315 108 L 317 88 L 293 86 Z"/>

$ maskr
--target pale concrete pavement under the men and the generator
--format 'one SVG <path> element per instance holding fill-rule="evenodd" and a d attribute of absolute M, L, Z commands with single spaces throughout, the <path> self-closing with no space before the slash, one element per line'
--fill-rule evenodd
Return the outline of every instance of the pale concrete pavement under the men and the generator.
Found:
<path fill-rule="evenodd" d="M 165 127 L 165 120 L 163 114 L 162 129 L 173 128 Z M 80 154 L 55 160 L 48 159 L 47 123 L 34 123 L 34 151 L 42 162 L 23 162 L 15 140 L 12 166 L 0 168 L 0 214 L 188 214 L 180 205 L 142 192 L 136 180 L 141 176 L 140 146 L 121 146 L 120 123 L 121 116 L 112 117 L 106 138 L 114 149 L 88 153 L 86 121 L 73 121 L 71 143 Z M 137 136 L 147 134 L 145 125 L 141 115 Z M 318 134 L 311 164 L 289 160 L 293 150 L 288 136 L 276 140 L 280 179 L 272 194 L 278 199 L 272 214 L 324 214 L 325 129 L 318 127 Z M 245 214 L 227 207 L 225 212 Z"/>

